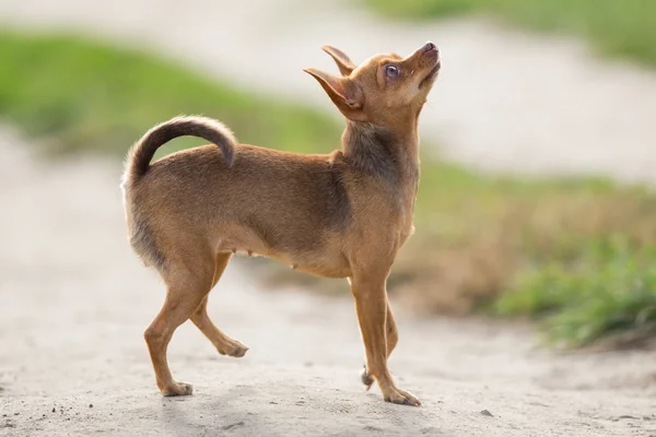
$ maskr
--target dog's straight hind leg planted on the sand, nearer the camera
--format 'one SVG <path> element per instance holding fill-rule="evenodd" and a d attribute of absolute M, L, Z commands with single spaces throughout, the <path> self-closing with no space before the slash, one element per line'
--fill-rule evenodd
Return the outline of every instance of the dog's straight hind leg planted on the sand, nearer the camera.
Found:
<path fill-rule="evenodd" d="M 166 349 L 177 327 L 191 317 L 209 293 L 212 273 L 213 268 L 209 262 L 196 265 L 195 271 L 190 271 L 183 262 L 168 262 L 166 271 L 162 272 L 166 283 L 166 299 L 143 336 L 155 370 L 157 387 L 166 397 L 191 394 L 194 391 L 191 385 L 173 379 L 166 359 Z"/>

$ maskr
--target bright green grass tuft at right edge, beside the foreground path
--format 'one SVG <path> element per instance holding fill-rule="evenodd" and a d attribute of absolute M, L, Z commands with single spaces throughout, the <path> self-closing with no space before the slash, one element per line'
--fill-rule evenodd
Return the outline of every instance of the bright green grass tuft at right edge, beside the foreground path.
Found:
<path fill-rule="evenodd" d="M 551 262 L 518 275 L 494 303 L 496 314 L 542 317 L 548 340 L 565 346 L 624 334 L 639 342 L 656 334 L 656 257 L 622 237 L 586 247 L 570 265 Z"/>

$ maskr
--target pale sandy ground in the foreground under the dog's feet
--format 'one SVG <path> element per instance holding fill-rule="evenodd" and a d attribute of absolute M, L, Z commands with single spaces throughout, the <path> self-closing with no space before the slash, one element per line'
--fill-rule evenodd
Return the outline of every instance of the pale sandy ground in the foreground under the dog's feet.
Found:
<path fill-rule="evenodd" d="M 247 356 L 220 356 L 186 323 L 169 358 L 195 395 L 162 399 L 142 332 L 164 291 L 128 248 L 120 168 L 34 150 L 0 131 L 0 435 L 656 434 L 653 354 L 555 356 L 478 321 L 400 314 L 391 369 L 424 406 L 386 404 L 360 386 L 350 299 L 258 290 L 247 260 L 210 299 Z"/>

